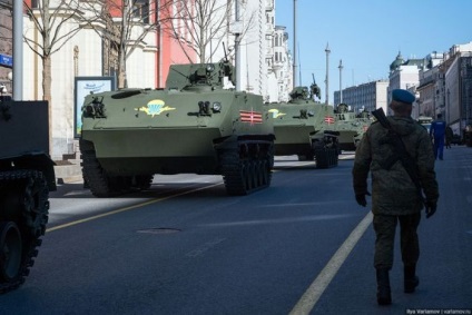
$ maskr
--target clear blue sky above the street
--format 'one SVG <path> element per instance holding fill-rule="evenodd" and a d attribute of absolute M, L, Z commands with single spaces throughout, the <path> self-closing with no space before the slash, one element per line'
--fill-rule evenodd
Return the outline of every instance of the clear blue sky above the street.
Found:
<path fill-rule="evenodd" d="M 403 59 L 445 52 L 472 41 L 470 0 L 275 0 L 275 24 L 286 27 L 296 51 L 299 85 L 315 76 L 325 100 L 326 46 L 330 47 L 330 102 L 342 88 L 389 79 L 390 65 L 399 52 Z"/>

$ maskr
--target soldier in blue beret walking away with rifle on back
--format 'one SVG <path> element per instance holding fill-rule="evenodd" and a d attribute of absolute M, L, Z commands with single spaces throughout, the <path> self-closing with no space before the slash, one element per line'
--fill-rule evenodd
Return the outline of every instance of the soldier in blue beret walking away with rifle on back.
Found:
<path fill-rule="evenodd" d="M 403 89 L 392 92 L 387 117 L 392 129 L 405 145 L 402 157 L 411 158 L 417 169 L 416 184 L 422 187 L 426 199 L 423 203 L 421 188 L 403 167 L 399 154 L 393 149 L 390 132 L 378 121 L 371 125 L 356 149 L 353 167 L 353 186 L 357 204 L 365 207 L 367 201 L 367 176 L 372 173 L 372 213 L 376 235 L 374 267 L 377 279 L 377 303 L 392 303 L 389 272 L 393 265 L 395 228 L 400 222 L 401 253 L 404 265 L 404 292 L 413 293 L 420 280 L 416 277 L 416 262 L 420 256 L 416 234 L 421 209 L 426 208 L 426 218 L 436 210 L 439 198 L 434 171 L 433 148 L 427 131 L 411 118 L 415 97 Z M 393 135 L 393 136 L 396 136 Z"/>

